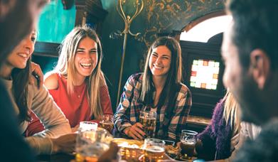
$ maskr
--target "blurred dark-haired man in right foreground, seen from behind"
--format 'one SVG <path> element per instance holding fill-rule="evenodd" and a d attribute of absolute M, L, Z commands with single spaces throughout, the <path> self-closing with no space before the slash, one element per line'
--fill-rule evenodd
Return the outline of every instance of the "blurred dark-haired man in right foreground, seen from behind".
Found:
<path fill-rule="evenodd" d="M 262 126 L 235 161 L 277 161 L 278 1 L 231 0 L 228 10 L 233 20 L 223 40 L 223 82 L 240 103 L 242 120 Z"/>

